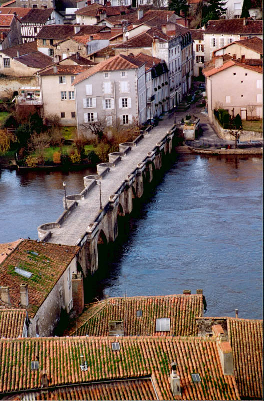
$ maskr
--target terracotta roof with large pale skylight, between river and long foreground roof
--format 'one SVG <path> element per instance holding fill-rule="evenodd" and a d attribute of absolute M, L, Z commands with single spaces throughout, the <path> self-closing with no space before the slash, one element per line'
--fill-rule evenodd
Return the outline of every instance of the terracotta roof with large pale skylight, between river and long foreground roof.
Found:
<path fill-rule="evenodd" d="M 142 310 L 142 317 L 137 317 Z M 203 315 L 202 295 L 110 298 L 88 305 L 65 335 L 107 336 L 108 322 L 122 320 L 124 335 L 197 335 L 196 316 Z M 156 319 L 170 318 L 170 331 L 156 332 Z"/>

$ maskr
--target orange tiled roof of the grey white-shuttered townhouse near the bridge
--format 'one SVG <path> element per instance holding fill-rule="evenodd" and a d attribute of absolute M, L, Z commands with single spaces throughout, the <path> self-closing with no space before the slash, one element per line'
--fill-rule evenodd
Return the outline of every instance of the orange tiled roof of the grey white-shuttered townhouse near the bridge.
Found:
<path fill-rule="evenodd" d="M 125 56 L 119 54 L 117 56 L 111 57 L 108 60 L 104 60 L 98 63 L 96 66 L 89 68 L 89 70 L 84 71 L 75 78 L 73 85 L 78 84 L 84 79 L 91 77 L 91 75 L 96 74 L 101 71 L 117 71 L 117 70 L 132 70 L 142 66 L 144 63 L 134 60 L 133 57 Z"/>

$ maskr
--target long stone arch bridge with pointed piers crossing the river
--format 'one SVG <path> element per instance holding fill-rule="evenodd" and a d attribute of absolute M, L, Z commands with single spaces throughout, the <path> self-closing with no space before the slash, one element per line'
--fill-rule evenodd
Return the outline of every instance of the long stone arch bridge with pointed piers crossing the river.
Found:
<path fill-rule="evenodd" d="M 93 274 L 98 269 L 97 245 L 115 241 L 118 216 L 131 213 L 133 199 L 142 196 L 144 185 L 171 153 L 175 131 L 172 121 L 164 120 L 133 142 L 120 144 L 119 152 L 109 154 L 109 163 L 97 165 L 96 175 L 84 177 L 81 193 L 66 197 L 68 210 L 56 222 L 38 227 L 40 240 L 80 246 L 78 262 L 85 276 Z"/>

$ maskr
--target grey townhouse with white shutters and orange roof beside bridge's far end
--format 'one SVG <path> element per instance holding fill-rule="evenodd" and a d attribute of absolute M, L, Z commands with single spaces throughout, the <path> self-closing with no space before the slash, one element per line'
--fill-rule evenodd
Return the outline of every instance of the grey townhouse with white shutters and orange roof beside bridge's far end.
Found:
<path fill-rule="evenodd" d="M 117 55 L 79 74 L 74 82 L 78 132 L 83 124 L 105 119 L 106 125 L 146 121 L 145 63 Z"/>

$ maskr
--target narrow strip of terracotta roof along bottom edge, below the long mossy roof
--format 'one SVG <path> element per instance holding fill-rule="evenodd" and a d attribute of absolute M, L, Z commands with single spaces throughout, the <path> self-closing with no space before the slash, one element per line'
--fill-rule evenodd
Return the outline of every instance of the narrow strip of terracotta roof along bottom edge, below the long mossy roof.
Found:
<path fill-rule="evenodd" d="M 9 397 L 9 401 L 25 400 L 28 397 L 34 400 L 84 400 L 93 399 L 94 401 L 102 401 L 102 399 L 116 401 L 118 399 L 133 399 L 133 401 L 142 401 L 149 399 L 157 399 L 154 385 L 151 378 L 140 378 L 137 380 L 114 380 L 110 382 L 101 382 L 94 384 L 83 384 L 75 386 L 67 386 L 56 390 L 41 390 L 30 393 L 17 394 L 16 398 Z M 27 398 L 26 398 L 27 397 Z M 4 397 L 5 399 L 5 397 Z"/>

